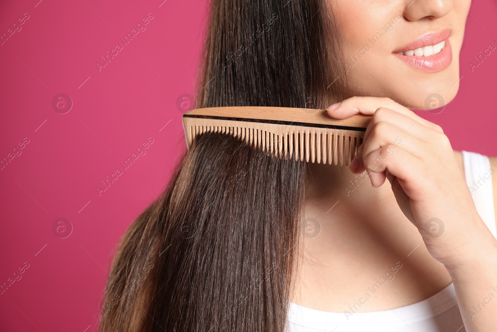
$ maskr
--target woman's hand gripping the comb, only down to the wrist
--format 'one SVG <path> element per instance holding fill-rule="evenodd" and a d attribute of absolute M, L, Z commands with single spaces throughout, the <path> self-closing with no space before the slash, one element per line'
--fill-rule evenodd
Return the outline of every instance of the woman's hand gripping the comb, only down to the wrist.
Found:
<path fill-rule="evenodd" d="M 373 115 L 350 170 L 366 171 L 374 187 L 389 179 L 399 207 L 433 257 L 454 264 L 464 259 L 461 250 L 474 251 L 484 238 L 495 242 L 440 126 L 389 98 L 352 97 L 336 106 L 327 109 L 334 118 Z"/>

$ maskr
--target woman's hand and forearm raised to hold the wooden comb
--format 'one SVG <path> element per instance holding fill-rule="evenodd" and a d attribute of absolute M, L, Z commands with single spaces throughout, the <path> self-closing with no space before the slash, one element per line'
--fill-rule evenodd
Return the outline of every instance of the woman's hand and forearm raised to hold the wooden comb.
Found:
<path fill-rule="evenodd" d="M 350 170 L 366 171 L 374 187 L 388 178 L 402 212 L 451 275 L 466 331 L 497 331 L 497 303 L 481 305 L 497 298 L 497 240 L 442 128 L 389 98 L 352 97 L 327 110 L 338 119 L 372 115 Z"/>

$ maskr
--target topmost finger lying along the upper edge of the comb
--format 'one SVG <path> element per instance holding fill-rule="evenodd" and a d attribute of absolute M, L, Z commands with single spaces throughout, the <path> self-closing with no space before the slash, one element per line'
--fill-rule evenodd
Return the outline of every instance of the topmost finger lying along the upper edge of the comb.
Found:
<path fill-rule="evenodd" d="M 407 115 L 424 126 L 437 131 L 442 131 L 439 126 L 423 119 L 408 108 L 386 97 L 351 97 L 340 103 L 331 105 L 326 110 L 331 117 L 343 119 L 354 114 L 373 115 L 379 108 L 382 107 Z"/>

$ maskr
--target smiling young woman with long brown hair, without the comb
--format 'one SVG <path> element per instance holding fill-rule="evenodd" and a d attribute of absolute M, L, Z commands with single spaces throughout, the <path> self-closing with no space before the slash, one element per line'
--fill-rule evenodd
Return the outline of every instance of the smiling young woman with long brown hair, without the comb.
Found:
<path fill-rule="evenodd" d="M 409 110 L 456 95 L 470 1 L 210 2 L 199 107 L 372 121 L 350 167 L 199 136 L 124 234 L 100 331 L 497 331 L 497 160 Z"/>

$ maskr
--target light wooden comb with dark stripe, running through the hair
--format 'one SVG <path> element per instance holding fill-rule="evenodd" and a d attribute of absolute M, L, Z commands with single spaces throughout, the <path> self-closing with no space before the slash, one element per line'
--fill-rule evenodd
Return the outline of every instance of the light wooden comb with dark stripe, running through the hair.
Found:
<path fill-rule="evenodd" d="M 183 115 L 188 149 L 197 135 L 217 132 L 245 140 L 272 156 L 348 165 L 371 116 L 331 118 L 326 110 L 285 107 L 211 107 Z"/>

